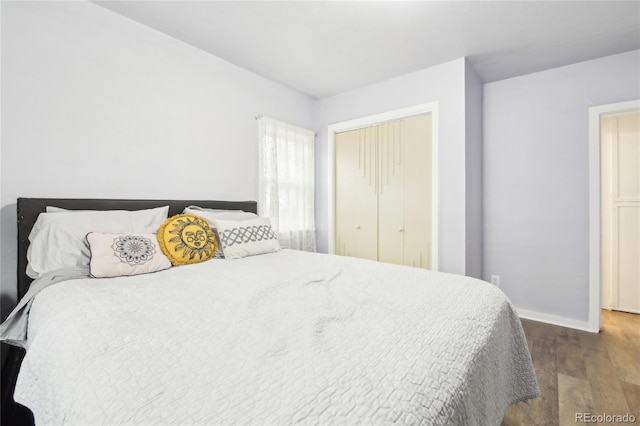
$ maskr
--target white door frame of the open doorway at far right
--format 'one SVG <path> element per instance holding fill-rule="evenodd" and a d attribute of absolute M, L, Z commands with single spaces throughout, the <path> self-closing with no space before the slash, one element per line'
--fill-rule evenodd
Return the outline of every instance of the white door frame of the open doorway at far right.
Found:
<path fill-rule="evenodd" d="M 640 110 L 640 99 L 589 108 L 589 331 L 602 326 L 602 241 L 600 209 L 600 119 L 604 115 Z"/>

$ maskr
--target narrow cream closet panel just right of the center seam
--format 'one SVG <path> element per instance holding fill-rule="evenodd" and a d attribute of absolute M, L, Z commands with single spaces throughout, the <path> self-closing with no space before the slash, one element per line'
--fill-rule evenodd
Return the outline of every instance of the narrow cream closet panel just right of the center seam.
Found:
<path fill-rule="evenodd" d="M 402 123 L 378 126 L 378 260 L 404 263 Z"/>

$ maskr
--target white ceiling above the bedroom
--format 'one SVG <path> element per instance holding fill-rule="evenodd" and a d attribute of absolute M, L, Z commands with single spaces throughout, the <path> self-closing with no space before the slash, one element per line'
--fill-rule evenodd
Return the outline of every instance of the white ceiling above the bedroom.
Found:
<path fill-rule="evenodd" d="M 467 57 L 484 82 L 640 49 L 639 1 L 96 1 L 323 98 Z"/>

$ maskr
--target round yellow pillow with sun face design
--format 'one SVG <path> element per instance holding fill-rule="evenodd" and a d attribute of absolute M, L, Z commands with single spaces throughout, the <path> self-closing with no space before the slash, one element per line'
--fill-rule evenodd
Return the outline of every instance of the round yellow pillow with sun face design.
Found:
<path fill-rule="evenodd" d="M 158 229 L 158 244 L 173 265 L 204 262 L 215 256 L 218 240 L 205 219 L 179 214 Z"/>

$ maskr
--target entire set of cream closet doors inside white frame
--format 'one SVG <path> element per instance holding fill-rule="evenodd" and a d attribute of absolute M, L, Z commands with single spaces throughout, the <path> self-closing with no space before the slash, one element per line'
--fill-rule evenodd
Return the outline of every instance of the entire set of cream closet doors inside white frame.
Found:
<path fill-rule="evenodd" d="M 431 115 L 335 136 L 335 253 L 431 268 Z"/>

